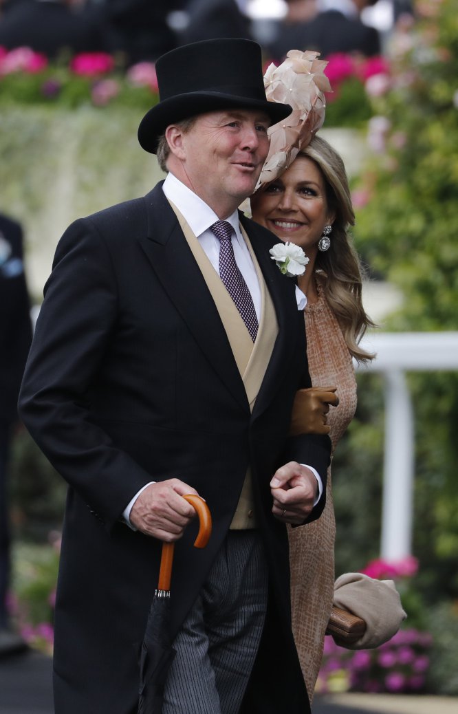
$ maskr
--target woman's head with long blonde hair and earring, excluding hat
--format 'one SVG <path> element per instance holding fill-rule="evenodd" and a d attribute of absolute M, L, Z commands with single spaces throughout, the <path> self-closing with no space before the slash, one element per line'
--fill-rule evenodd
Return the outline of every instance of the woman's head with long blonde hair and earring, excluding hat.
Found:
<path fill-rule="evenodd" d="M 348 229 L 355 222 L 345 166 L 332 146 L 315 136 L 291 166 L 251 198 L 253 218 L 279 238 L 299 245 L 310 263 L 299 286 L 309 304 L 323 293 L 356 359 L 372 325 L 361 302 L 361 268 Z"/>

